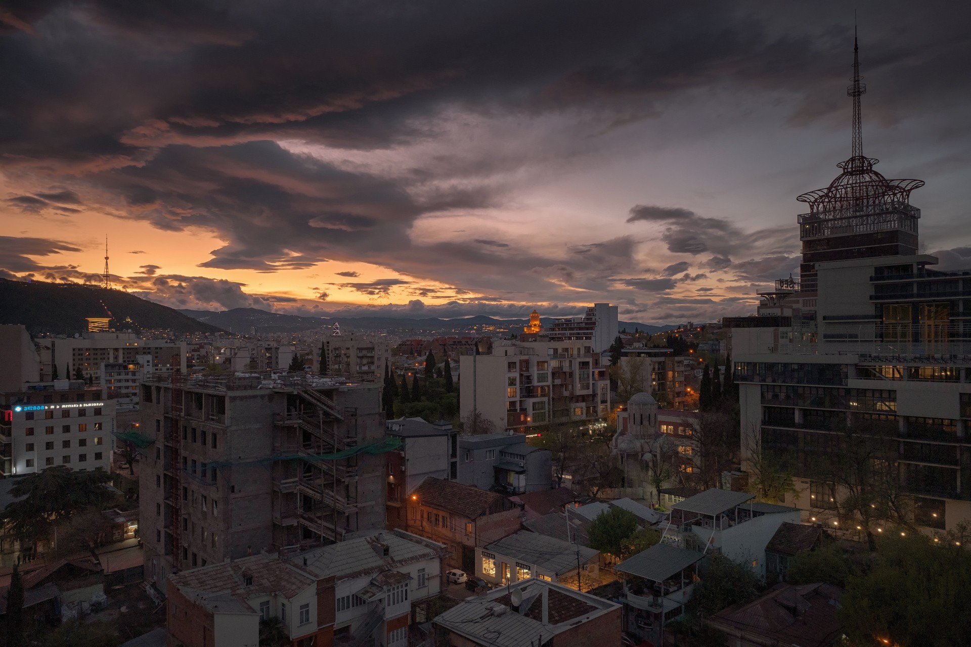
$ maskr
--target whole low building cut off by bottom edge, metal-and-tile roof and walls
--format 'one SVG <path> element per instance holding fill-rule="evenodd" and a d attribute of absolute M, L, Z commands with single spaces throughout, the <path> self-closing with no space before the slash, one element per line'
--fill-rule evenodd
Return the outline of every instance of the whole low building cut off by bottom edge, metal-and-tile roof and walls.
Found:
<path fill-rule="evenodd" d="M 530 578 L 456 604 L 433 625 L 462 647 L 619 647 L 620 616 L 608 599 Z"/>

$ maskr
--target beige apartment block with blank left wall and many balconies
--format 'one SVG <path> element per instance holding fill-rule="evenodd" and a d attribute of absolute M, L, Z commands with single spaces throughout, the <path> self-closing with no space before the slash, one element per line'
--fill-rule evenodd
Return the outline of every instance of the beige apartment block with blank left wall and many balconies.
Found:
<path fill-rule="evenodd" d="M 607 366 L 589 342 L 504 340 L 491 355 L 460 357 L 459 373 L 462 418 L 478 411 L 496 431 L 593 423 L 609 413 Z"/>

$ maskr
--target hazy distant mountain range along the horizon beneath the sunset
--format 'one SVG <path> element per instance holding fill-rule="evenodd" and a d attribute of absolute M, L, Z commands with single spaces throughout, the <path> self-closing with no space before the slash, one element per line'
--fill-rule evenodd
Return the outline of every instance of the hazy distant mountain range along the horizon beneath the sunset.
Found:
<path fill-rule="evenodd" d="M 460 319 L 440 319 L 430 317 L 425 319 L 409 319 L 406 317 L 304 317 L 296 314 L 268 312 L 255 307 L 235 307 L 231 310 L 179 310 L 183 314 L 194 317 L 222 330 L 241 335 L 256 333 L 285 333 L 312 330 L 323 326 L 331 326 L 336 321 L 345 331 L 414 331 L 422 334 L 456 334 L 493 332 L 521 332 L 522 327 L 529 323 L 528 319 L 495 319 L 484 315 L 464 317 Z M 544 326 L 552 322 L 551 317 L 541 318 Z M 634 328 L 649 333 L 660 333 L 677 328 L 675 325 L 653 326 L 651 324 L 620 321 L 619 328 L 626 328 L 633 332 Z"/>

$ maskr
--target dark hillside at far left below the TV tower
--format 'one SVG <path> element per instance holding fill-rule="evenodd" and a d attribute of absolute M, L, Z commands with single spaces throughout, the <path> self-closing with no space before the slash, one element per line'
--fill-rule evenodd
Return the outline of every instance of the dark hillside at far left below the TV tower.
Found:
<path fill-rule="evenodd" d="M 85 317 L 111 317 L 109 326 L 119 331 L 221 332 L 217 326 L 123 290 L 75 283 L 0 278 L 0 304 L 0 324 L 22 324 L 32 335 L 84 333 Z"/>

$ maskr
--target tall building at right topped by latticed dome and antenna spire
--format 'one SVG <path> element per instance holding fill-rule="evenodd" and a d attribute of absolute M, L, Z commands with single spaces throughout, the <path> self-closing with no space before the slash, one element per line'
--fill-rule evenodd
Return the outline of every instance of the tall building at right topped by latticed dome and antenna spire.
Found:
<path fill-rule="evenodd" d="M 860 80 L 854 49 L 853 154 L 829 186 L 798 198 L 809 206 L 798 216 L 800 278 L 762 293 L 759 316 L 724 321 L 743 461 L 753 466 L 759 445 L 783 457 L 800 491 L 787 502 L 835 530 L 849 491 L 834 468 L 863 442 L 859 489 L 947 530 L 971 519 L 971 269 L 937 270 L 918 253 L 910 195 L 923 182 L 884 178 L 863 155 Z M 879 515 L 862 523 L 850 531 L 883 530 Z"/>

